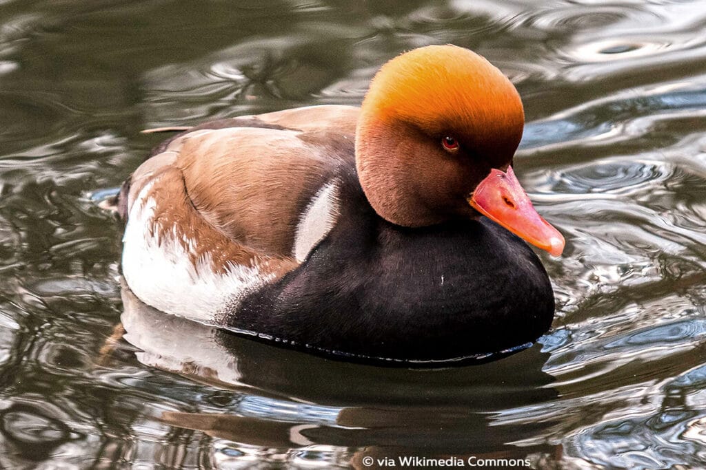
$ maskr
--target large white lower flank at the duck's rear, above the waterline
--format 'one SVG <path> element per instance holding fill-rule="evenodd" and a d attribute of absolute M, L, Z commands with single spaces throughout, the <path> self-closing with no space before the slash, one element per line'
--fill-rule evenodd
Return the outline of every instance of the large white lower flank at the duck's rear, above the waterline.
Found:
<path fill-rule="evenodd" d="M 145 185 L 136 198 L 123 236 L 123 276 L 132 292 L 145 304 L 168 314 L 214 323 L 226 308 L 263 285 L 272 275 L 257 268 L 231 264 L 224 274 L 215 273 L 211 257 L 193 266 L 189 251 L 177 242 L 177 227 L 163 240 L 150 236 L 155 199 L 145 200 L 155 181 Z M 190 248 L 198 240 L 185 240 Z"/>

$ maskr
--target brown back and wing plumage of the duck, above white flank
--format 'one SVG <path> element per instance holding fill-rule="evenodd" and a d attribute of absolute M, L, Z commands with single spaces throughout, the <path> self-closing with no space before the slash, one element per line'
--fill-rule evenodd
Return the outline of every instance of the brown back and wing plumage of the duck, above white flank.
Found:
<path fill-rule="evenodd" d="M 155 229 L 176 224 L 198 240 L 194 263 L 208 245 L 218 271 L 228 256 L 248 264 L 256 254 L 291 268 L 301 211 L 340 162 L 354 158 L 358 113 L 318 106 L 258 116 L 254 124 L 269 128 L 240 127 L 253 125 L 249 116 L 191 128 L 133 173 L 126 212 L 147 183 L 160 180 L 150 190 L 160 214 Z"/>

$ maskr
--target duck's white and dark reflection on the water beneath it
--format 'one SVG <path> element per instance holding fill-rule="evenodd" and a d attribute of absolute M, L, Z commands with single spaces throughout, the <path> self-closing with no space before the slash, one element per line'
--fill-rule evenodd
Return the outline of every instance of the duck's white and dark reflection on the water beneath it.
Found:
<path fill-rule="evenodd" d="M 223 409 L 193 404 L 164 412 L 164 423 L 248 446 L 344 447 L 361 455 L 526 456 L 548 446 L 514 447 L 542 423 L 493 426 L 505 409 L 556 397 L 538 346 L 500 361 L 448 369 L 390 369 L 281 349 L 163 314 L 126 287 L 124 338 L 145 365 L 222 390 Z M 551 423 L 546 423 L 551 426 Z"/>

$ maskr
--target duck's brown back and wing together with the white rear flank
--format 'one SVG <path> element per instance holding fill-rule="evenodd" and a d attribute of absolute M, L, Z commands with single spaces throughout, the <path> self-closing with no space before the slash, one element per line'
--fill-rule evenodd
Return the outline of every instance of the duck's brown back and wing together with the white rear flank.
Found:
<path fill-rule="evenodd" d="M 214 121 L 157 147 L 123 194 L 131 290 L 216 321 L 298 266 L 335 217 L 331 188 L 354 159 L 356 118 L 347 106 L 294 109 Z"/>

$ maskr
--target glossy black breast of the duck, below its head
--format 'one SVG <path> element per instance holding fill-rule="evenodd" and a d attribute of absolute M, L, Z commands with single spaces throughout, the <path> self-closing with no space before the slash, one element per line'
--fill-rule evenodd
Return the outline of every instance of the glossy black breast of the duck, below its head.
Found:
<path fill-rule="evenodd" d="M 554 294 L 537 255 L 495 223 L 400 228 L 359 186 L 299 268 L 222 319 L 299 347 L 354 357 L 439 361 L 539 338 Z"/>

